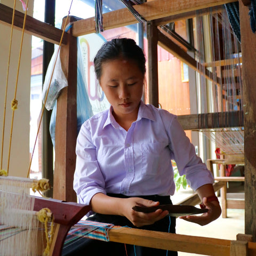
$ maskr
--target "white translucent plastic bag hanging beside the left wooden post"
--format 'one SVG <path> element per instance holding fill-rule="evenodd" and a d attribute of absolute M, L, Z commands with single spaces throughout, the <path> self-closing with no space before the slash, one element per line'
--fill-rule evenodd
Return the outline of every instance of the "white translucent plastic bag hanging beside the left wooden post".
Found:
<path fill-rule="evenodd" d="M 46 71 L 44 85 L 43 85 L 42 99 L 43 99 L 43 102 L 45 102 L 49 84 L 51 82 L 49 93 L 47 95 L 47 99 L 45 103 L 45 108 L 47 110 L 50 110 L 54 107 L 54 103 L 57 100 L 61 89 L 68 86 L 67 78 L 64 75 L 61 68 L 60 54 L 58 54 L 58 57 L 57 57 L 57 54 L 58 54 L 58 47 L 55 47 L 54 53 L 52 55 L 51 61 Z M 54 68 L 56 57 L 57 57 L 57 62 Z M 52 71 L 53 71 L 53 75 L 52 75 Z M 52 80 L 51 80 L 51 76 L 52 76 Z"/>

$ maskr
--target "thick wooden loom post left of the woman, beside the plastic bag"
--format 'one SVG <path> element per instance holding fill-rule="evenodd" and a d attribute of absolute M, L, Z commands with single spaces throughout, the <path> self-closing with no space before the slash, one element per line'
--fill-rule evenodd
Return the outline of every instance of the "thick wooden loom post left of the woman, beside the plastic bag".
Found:
<path fill-rule="evenodd" d="M 67 24 L 72 21 L 74 17 L 70 17 Z M 64 23 L 63 20 L 62 26 Z M 61 46 L 60 51 L 62 70 L 67 77 L 68 86 L 61 90 L 57 103 L 53 198 L 76 202 L 73 177 L 77 137 L 77 38 L 72 36 L 72 28 L 68 33 L 68 44 Z"/>

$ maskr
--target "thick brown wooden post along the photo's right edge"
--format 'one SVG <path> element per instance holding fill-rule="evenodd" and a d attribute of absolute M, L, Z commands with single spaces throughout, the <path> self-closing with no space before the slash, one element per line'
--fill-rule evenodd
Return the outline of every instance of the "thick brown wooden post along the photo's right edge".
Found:
<path fill-rule="evenodd" d="M 243 60 L 245 234 L 256 241 L 256 35 L 250 27 L 249 9 L 239 0 Z"/>

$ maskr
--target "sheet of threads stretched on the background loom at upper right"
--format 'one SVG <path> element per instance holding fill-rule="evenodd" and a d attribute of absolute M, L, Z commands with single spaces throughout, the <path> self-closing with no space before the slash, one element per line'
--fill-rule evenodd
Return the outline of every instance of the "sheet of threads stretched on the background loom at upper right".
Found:
<path fill-rule="evenodd" d="M 236 111 L 243 110 L 242 60 L 241 47 L 237 40 L 237 35 L 235 35 L 234 28 L 231 29 L 229 26 L 230 17 L 239 25 L 238 9 L 236 9 L 235 3 L 225 7 L 226 10 L 223 9 L 218 14 L 212 7 L 207 19 L 200 14 L 200 11 L 197 11 L 197 59 L 215 77 L 222 77 L 220 84 L 217 84 L 206 81 L 203 75 L 197 76 L 197 92 L 199 95 L 197 97 L 198 122 L 201 127 L 199 131 L 202 132 L 202 135 L 213 142 L 225 154 L 233 155 L 243 154 L 244 151 L 243 127 L 230 127 L 234 123 Z M 234 8 L 232 9 L 231 7 Z M 231 12 L 235 15 L 230 16 Z M 219 29 L 220 24 L 222 25 L 221 29 Z M 208 27 L 210 29 L 207 30 L 208 33 L 205 33 Z M 211 49 L 207 48 L 208 45 L 212 45 Z M 211 94 L 210 97 L 208 96 L 209 94 Z M 226 128 L 220 127 L 221 117 L 218 113 L 228 112 L 230 117 L 223 119 Z M 209 129 L 207 126 L 207 114 L 205 113 L 216 113 L 216 115 L 213 114 L 212 119 L 214 129 Z M 243 118 L 242 111 L 239 113 L 238 118 Z"/>

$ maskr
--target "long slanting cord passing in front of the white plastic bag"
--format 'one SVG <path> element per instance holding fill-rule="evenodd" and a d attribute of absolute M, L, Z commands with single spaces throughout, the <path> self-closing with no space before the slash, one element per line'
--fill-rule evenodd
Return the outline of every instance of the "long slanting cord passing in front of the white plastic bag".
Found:
<path fill-rule="evenodd" d="M 57 63 L 57 58 L 58 58 L 58 54 L 60 52 L 60 46 L 61 46 L 62 39 L 63 39 L 64 33 L 65 33 L 65 28 L 67 26 L 67 21 L 68 21 L 68 17 L 69 17 L 69 14 L 70 14 L 70 9 L 71 9 L 72 3 L 73 3 L 73 0 L 71 1 L 70 7 L 69 7 L 69 11 L 68 11 L 68 15 L 67 15 L 66 20 L 65 20 L 65 25 L 63 26 L 62 34 L 61 34 L 61 37 L 60 37 L 60 43 L 59 43 L 58 52 L 57 52 L 57 55 L 56 55 L 56 59 L 55 59 L 53 70 L 52 70 L 51 79 L 50 79 L 50 82 L 49 82 L 49 87 L 48 87 L 48 89 L 46 91 L 46 95 L 45 95 L 45 99 L 44 99 L 44 105 L 42 107 L 41 117 L 40 117 L 40 121 L 39 121 L 39 124 L 38 124 L 38 129 L 37 129 L 36 139 L 35 139 L 35 143 L 34 143 L 34 148 L 33 148 L 32 154 L 31 154 L 30 163 L 29 163 L 29 167 L 28 167 L 27 178 L 29 178 L 30 167 L 31 167 L 31 164 L 32 164 L 32 160 L 33 160 L 33 156 L 34 156 L 34 151 L 35 151 L 35 148 L 36 148 L 36 141 L 37 141 L 37 138 L 38 138 L 38 134 L 39 134 L 39 131 L 40 131 L 40 127 L 41 127 L 41 123 L 42 123 L 42 119 L 43 119 L 43 115 L 44 115 L 45 104 L 46 104 L 46 101 L 47 101 L 48 93 L 49 93 L 49 90 L 50 90 L 50 85 L 51 85 L 51 82 L 52 82 L 53 71 L 54 71 L 56 63 Z"/>

